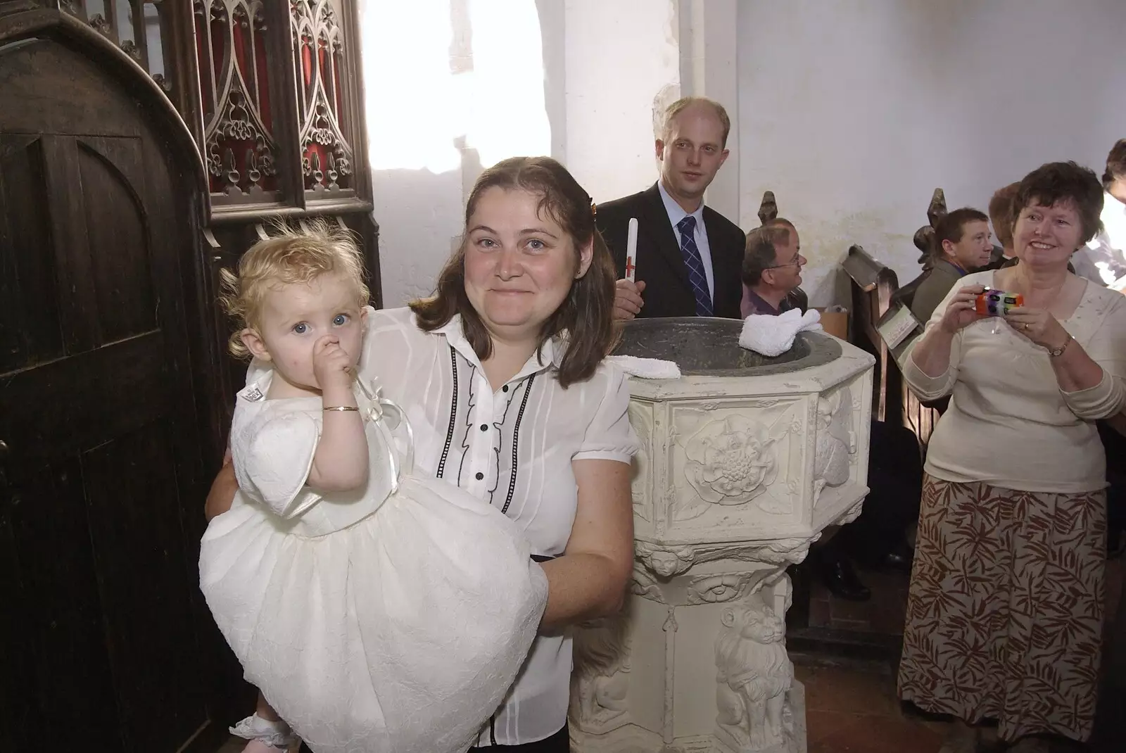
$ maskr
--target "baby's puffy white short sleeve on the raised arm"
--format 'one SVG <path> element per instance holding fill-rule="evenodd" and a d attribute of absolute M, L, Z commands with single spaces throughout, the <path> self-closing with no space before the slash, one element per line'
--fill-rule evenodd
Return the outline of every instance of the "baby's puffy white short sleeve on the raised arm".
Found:
<path fill-rule="evenodd" d="M 232 438 L 239 488 L 283 518 L 297 514 L 294 503 L 313 467 L 320 434 L 320 425 L 304 411 L 259 414 Z"/>

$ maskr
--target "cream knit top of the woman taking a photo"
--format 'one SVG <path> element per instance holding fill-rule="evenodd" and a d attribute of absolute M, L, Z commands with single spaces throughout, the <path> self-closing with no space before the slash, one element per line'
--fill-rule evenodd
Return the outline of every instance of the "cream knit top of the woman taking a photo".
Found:
<path fill-rule="evenodd" d="M 927 331 L 938 325 L 958 289 L 992 284 L 992 271 L 962 278 L 935 308 Z M 930 438 L 928 474 L 1027 492 L 1081 493 L 1106 486 L 1094 420 L 1126 405 L 1126 296 L 1088 284 L 1075 312 L 1061 324 L 1102 367 L 1094 387 L 1062 392 L 1047 350 L 1000 319 L 959 330 L 950 366 L 940 376 L 923 374 L 906 352 L 903 376 L 920 398 L 953 395 Z"/>

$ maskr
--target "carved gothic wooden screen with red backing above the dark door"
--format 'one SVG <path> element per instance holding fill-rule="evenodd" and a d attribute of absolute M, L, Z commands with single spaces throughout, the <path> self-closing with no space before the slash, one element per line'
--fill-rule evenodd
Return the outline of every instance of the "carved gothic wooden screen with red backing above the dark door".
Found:
<path fill-rule="evenodd" d="M 184 116 L 212 219 L 370 210 L 352 0 L 71 5 Z"/>

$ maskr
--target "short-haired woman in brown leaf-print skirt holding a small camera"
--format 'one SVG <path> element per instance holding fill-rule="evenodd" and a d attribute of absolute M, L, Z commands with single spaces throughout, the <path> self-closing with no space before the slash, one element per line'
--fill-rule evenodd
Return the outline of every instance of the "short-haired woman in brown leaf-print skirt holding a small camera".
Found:
<path fill-rule="evenodd" d="M 1091 170 L 1045 164 L 1013 208 L 1020 263 L 964 277 L 903 369 L 921 400 L 951 395 L 927 452 L 899 675 L 904 700 L 954 717 L 944 753 L 973 751 L 984 719 L 1024 752 L 1046 750 L 1043 735 L 1083 741 L 1094 718 L 1094 422 L 1126 404 L 1126 297 L 1067 271 L 1099 228 Z"/>

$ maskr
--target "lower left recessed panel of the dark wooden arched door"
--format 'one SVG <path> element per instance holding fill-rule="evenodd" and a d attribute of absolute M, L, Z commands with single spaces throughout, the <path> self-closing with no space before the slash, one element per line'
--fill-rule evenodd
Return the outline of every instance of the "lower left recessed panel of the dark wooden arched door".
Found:
<path fill-rule="evenodd" d="M 79 459 L 9 464 L 7 473 L 11 488 L 0 504 L 9 508 L 15 557 L 6 558 L 3 577 L 18 573 L 20 589 L 5 611 L 20 625 L 16 643 L 3 651 L 30 670 L 23 673 L 26 698 L 17 721 L 27 734 L 44 736 L 64 724 L 98 741 L 99 750 L 119 751 Z"/>

